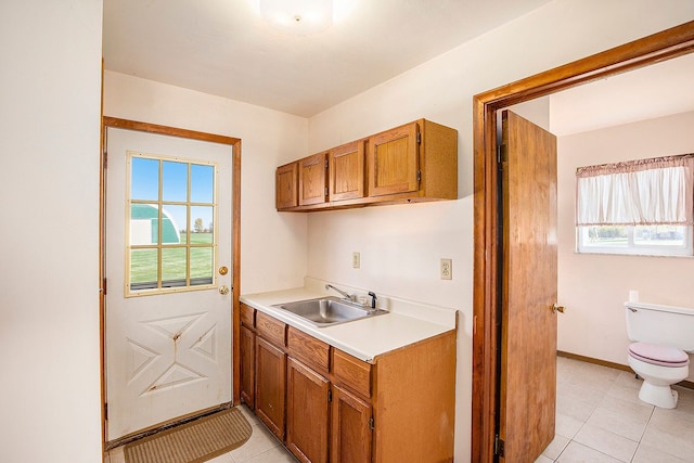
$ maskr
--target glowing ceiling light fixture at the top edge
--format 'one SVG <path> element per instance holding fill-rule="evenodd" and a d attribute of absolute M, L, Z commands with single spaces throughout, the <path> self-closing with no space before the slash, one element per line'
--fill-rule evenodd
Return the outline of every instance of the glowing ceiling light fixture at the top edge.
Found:
<path fill-rule="evenodd" d="M 259 0 L 260 15 L 272 27 L 299 36 L 333 25 L 333 0 Z"/>

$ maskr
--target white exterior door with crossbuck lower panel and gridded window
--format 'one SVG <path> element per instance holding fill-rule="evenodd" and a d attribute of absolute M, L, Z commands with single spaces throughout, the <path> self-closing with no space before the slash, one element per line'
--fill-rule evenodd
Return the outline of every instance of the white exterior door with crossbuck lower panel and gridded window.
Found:
<path fill-rule="evenodd" d="M 108 164 L 105 240 L 108 292 L 105 303 L 105 373 L 108 404 L 106 439 L 111 441 L 232 400 L 232 295 L 218 292 L 218 286 L 232 286 L 232 275 L 231 272 L 224 275 L 217 273 L 220 266 L 232 267 L 232 153 L 229 145 L 116 128 L 108 128 L 106 137 Z M 216 216 L 209 220 L 206 218 L 204 222 L 201 220 L 198 227 L 194 222 L 197 214 L 202 214 L 202 207 L 191 205 L 190 217 L 185 218 L 183 214 L 183 218 L 170 220 L 175 216 L 174 210 L 185 210 L 187 206 L 164 206 L 162 209 L 168 207 L 169 211 L 162 214 L 166 214 L 167 221 L 176 223 L 169 230 L 176 239 L 171 242 L 164 237 L 163 232 L 157 239 L 156 232 L 152 233 L 151 230 L 157 229 L 159 219 L 155 216 L 147 221 L 143 221 L 141 217 L 134 220 L 133 210 L 137 209 L 128 207 L 128 152 L 165 156 L 167 159 L 190 159 L 196 166 L 197 163 L 214 165 Z M 164 172 L 163 179 L 162 189 L 165 190 L 170 185 L 170 177 Z M 191 191 L 200 185 L 192 173 L 190 183 Z M 164 191 L 164 195 L 166 194 Z M 204 207 L 213 209 L 211 206 Z M 157 208 L 155 206 L 150 209 L 154 209 L 156 214 Z M 150 228 L 146 233 L 137 234 L 134 240 L 132 233 L 143 224 Z M 207 228 L 207 231 L 203 231 L 203 228 Z M 217 234 L 215 258 L 205 258 L 204 270 L 206 274 L 211 271 L 211 284 L 207 276 L 206 284 L 197 286 L 195 291 L 168 287 L 168 293 L 137 295 L 138 290 L 132 290 L 130 281 L 126 281 L 126 266 L 130 257 L 126 246 L 128 242 L 141 244 L 144 240 L 150 245 L 162 243 L 176 246 L 177 240 L 182 243 L 187 235 L 193 242 L 193 234 L 198 240 L 214 233 Z M 171 263 L 172 260 L 164 260 L 168 250 L 170 249 L 162 250 L 163 278 L 170 274 L 174 265 L 174 273 L 177 278 L 181 275 L 185 284 L 185 270 L 181 271 L 177 267 L 179 263 Z M 197 250 L 191 249 L 185 259 L 191 259 L 193 254 L 197 254 Z M 166 269 L 165 265 L 168 266 Z M 137 265 L 133 266 L 134 269 Z M 195 278 L 200 271 L 200 268 L 192 268 L 191 262 L 190 279 Z M 157 274 L 156 268 L 153 272 Z M 166 283 L 169 284 L 170 281 Z M 177 284 L 181 284 L 180 281 Z M 154 286 L 156 287 L 156 282 Z M 128 293 L 129 297 L 126 297 Z"/>

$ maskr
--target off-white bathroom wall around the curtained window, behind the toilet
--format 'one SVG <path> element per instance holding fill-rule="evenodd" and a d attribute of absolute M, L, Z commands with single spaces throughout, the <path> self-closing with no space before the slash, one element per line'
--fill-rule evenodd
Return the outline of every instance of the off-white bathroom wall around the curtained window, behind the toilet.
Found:
<path fill-rule="evenodd" d="M 643 303 L 694 309 L 694 258 L 576 254 L 574 213 L 577 167 L 694 153 L 692 127 L 694 112 L 558 139 L 560 350 L 627 364 L 630 290 Z"/>

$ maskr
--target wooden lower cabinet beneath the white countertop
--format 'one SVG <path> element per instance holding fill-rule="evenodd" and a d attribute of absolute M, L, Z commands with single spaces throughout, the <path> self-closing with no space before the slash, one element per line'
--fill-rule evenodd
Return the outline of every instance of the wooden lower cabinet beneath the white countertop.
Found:
<path fill-rule="evenodd" d="M 246 376 L 242 388 L 255 390 L 256 414 L 299 461 L 453 461 L 455 330 L 364 362 L 256 314 L 256 332 L 241 330 L 242 362 L 255 334 L 255 389 Z"/>

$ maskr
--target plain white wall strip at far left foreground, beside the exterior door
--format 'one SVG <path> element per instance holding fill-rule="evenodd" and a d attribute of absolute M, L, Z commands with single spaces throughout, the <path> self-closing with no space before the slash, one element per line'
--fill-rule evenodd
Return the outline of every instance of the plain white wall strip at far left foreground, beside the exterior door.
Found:
<path fill-rule="evenodd" d="M 0 460 L 101 461 L 101 0 L 0 2 Z"/>

